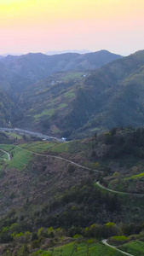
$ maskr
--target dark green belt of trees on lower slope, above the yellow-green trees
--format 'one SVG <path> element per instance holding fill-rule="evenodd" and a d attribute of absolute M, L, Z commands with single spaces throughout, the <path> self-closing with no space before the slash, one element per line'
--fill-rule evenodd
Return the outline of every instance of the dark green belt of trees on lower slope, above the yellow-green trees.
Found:
<path fill-rule="evenodd" d="M 95 222 L 106 222 L 107 212 L 109 216 L 121 211 L 121 202 L 117 195 L 102 193 L 92 180 L 86 179 L 82 184 L 64 191 L 62 195 L 56 195 L 52 201 L 35 211 L 29 211 L 30 207 L 30 201 L 26 201 L 23 212 L 9 212 L 0 219 L 0 229 L 13 223 L 19 224 L 20 232 L 37 230 L 41 226 L 53 226 L 55 229 L 62 227 L 66 230 L 72 226 L 84 228 Z M 5 242 L 5 236 L 2 237 Z"/>

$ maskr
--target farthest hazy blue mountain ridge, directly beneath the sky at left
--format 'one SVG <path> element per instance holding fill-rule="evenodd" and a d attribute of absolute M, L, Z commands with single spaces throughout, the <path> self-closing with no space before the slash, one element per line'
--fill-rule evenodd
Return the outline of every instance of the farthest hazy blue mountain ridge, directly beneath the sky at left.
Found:
<path fill-rule="evenodd" d="M 43 55 L 42 53 L 29 53 L 20 56 L 8 55 L 0 60 L 0 65 L 1 67 L 3 66 L 2 69 L 5 69 L 5 72 L 2 73 L 0 68 L 0 76 L 2 75 L 3 80 L 9 83 L 9 89 L 11 80 L 16 79 L 14 86 L 13 84 L 11 85 L 11 92 L 14 93 L 14 90 L 23 90 L 27 84 L 47 78 L 52 73 L 66 70 L 95 69 L 119 58 L 122 58 L 122 56 L 114 55 L 107 50 L 84 55 L 77 53 L 61 55 Z M 20 83 L 18 78 L 20 78 Z M 22 79 L 24 79 L 23 82 Z"/>

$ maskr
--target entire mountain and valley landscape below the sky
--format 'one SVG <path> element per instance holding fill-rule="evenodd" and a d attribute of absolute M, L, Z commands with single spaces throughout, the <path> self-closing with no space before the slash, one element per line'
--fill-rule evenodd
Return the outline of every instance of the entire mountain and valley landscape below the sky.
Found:
<path fill-rule="evenodd" d="M 0 255 L 144 255 L 143 57 L 0 59 Z"/>

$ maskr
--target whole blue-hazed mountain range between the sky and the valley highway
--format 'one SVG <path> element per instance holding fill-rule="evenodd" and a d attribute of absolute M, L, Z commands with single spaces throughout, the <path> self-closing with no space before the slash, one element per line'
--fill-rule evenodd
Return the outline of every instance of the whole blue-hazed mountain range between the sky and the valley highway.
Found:
<path fill-rule="evenodd" d="M 17 109 L 13 126 L 72 139 L 143 125 L 143 50 L 127 57 L 106 50 L 9 55 L 0 65 L 0 87 Z"/>

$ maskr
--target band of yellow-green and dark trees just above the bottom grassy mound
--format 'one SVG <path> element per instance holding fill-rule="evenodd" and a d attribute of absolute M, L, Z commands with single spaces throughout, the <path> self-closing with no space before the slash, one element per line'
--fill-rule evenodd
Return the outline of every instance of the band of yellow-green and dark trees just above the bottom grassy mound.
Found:
<path fill-rule="evenodd" d="M 32 252 L 37 252 L 41 247 L 49 249 L 49 247 L 55 246 L 66 236 L 72 237 L 78 241 L 83 241 L 85 238 L 95 238 L 101 241 L 103 238 L 112 237 L 112 241 L 117 241 L 117 243 L 120 241 L 122 243 L 122 241 L 128 241 L 128 236 L 129 239 L 132 240 L 135 239 L 136 234 L 143 236 L 143 229 L 144 224 L 115 224 L 108 222 L 107 224 L 91 224 L 86 228 L 72 226 L 70 229 L 66 230 L 63 228 L 54 229 L 53 227 L 41 227 L 35 232 L 20 232 L 19 225 L 14 223 L 1 230 L 0 242 L 8 243 L 10 241 L 6 253 L 3 252 L 3 255 L 26 256 L 33 255 Z M 7 237 L 7 239 L 2 241 L 3 237 Z"/>

